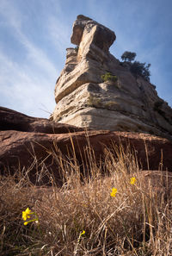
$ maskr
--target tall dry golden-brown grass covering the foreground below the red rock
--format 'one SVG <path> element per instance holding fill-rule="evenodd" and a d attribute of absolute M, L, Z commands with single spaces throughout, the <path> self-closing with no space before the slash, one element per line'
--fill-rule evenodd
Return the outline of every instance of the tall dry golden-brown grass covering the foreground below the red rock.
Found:
<path fill-rule="evenodd" d="M 98 163 L 88 147 L 83 174 L 75 152 L 72 159 L 53 152 L 61 188 L 52 174 L 52 187 L 36 187 L 22 171 L 1 177 L 0 255 L 172 255 L 171 198 L 139 178 L 134 153 L 114 151 L 107 149 Z M 27 208 L 39 223 L 23 225 Z"/>

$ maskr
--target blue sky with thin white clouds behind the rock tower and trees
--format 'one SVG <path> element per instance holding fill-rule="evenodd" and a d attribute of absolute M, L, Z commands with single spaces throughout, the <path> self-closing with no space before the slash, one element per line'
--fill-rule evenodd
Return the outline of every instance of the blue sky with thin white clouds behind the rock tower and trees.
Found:
<path fill-rule="evenodd" d="M 0 0 L 1 106 L 28 116 L 52 113 L 79 14 L 115 32 L 116 58 L 131 51 L 151 63 L 151 83 L 172 106 L 172 0 Z"/>

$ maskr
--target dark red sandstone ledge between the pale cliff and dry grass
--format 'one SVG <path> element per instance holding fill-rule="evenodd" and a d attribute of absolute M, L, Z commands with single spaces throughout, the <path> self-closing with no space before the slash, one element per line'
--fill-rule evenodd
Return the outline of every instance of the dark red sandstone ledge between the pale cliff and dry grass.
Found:
<path fill-rule="evenodd" d="M 62 184 L 58 157 L 54 157 L 54 153 L 58 156 L 62 153 L 64 157 L 72 159 L 74 158 L 74 147 L 78 164 L 82 166 L 87 159 L 86 147 L 93 148 L 95 159 L 98 161 L 100 158 L 104 158 L 107 148 L 113 148 L 113 144 L 123 145 L 124 148 L 130 145 L 142 170 L 172 171 L 172 142 L 170 140 L 151 134 L 131 132 L 85 132 L 64 124 L 58 126 L 58 123 L 55 124 L 54 129 L 56 134 L 53 134 L 52 122 L 46 119 L 25 116 L 11 109 L 1 108 L 0 110 L 3 113 L 0 115 L 2 121 L 0 131 L 1 173 L 22 172 L 23 168 L 30 169 L 32 170 L 30 172 L 31 180 L 37 183 L 35 173 L 43 172 L 44 169 L 45 173 L 46 171 L 52 173 L 57 184 Z M 6 113 L 6 117 L 4 113 Z M 45 175 L 41 182 L 44 184 L 46 181 L 47 176 Z"/>

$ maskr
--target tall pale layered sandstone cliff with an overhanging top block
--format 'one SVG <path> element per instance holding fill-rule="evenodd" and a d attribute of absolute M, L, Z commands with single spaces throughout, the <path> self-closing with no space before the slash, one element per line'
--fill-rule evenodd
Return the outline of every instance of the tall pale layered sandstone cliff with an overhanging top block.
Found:
<path fill-rule="evenodd" d="M 172 109 L 155 86 L 135 77 L 109 53 L 113 31 L 85 16 L 73 25 L 63 71 L 55 87 L 55 122 L 82 128 L 172 135 Z M 117 81 L 103 81 L 110 72 Z"/>

